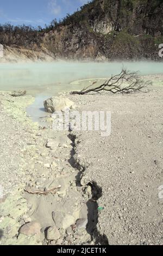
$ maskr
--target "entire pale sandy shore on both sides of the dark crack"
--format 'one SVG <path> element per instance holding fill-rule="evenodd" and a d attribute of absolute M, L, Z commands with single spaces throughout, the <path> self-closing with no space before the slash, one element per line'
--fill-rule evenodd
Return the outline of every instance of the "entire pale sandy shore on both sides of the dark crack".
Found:
<path fill-rule="evenodd" d="M 44 130 L 30 121 L 25 108 L 33 97 L 1 93 L 1 245 L 163 244 L 163 201 L 158 196 L 163 185 L 163 77 L 148 78 L 154 81 L 148 93 L 68 95 L 80 112 L 112 115 L 109 137 L 73 131 L 76 144 L 69 132 Z M 46 148 L 49 139 L 60 144 L 57 149 Z M 79 163 L 81 172 L 73 163 Z M 49 190 L 59 185 L 57 194 L 24 193 L 25 187 Z M 92 197 L 99 197 L 98 205 Z M 104 209 L 97 211 L 98 206 Z M 86 230 L 77 230 L 78 218 L 88 218 Z M 30 221 L 39 222 L 41 232 L 21 234 Z M 46 228 L 54 225 L 60 239 L 47 240 Z"/>

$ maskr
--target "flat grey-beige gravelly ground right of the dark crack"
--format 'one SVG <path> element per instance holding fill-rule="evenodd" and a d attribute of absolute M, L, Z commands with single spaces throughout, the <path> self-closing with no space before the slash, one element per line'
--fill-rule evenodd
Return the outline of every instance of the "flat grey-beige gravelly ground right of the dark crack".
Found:
<path fill-rule="evenodd" d="M 162 76 L 157 76 L 162 83 Z M 132 95 L 72 95 L 79 111 L 111 111 L 111 135 L 74 132 L 84 183 L 102 189 L 97 229 L 110 245 L 162 245 L 163 87 Z M 79 106 L 79 105 L 78 105 Z"/>

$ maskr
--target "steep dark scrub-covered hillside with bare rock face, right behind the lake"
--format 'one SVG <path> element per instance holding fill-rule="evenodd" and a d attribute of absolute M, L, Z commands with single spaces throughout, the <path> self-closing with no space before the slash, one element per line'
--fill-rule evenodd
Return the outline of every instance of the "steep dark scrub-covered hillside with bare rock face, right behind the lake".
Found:
<path fill-rule="evenodd" d="M 55 58 L 159 59 L 163 0 L 94 0 L 59 23 L 54 20 L 54 26 L 31 34 L 33 40 L 26 36 L 21 46 L 34 51 L 46 48 Z"/>

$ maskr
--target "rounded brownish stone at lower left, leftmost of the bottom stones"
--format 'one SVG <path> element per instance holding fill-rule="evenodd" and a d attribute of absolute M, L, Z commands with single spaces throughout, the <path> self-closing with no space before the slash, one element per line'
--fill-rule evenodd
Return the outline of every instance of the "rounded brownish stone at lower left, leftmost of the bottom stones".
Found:
<path fill-rule="evenodd" d="M 20 228 L 20 233 L 24 235 L 29 235 L 29 236 L 35 235 L 40 233 L 40 229 L 41 229 L 40 223 L 33 221 L 23 225 Z"/>

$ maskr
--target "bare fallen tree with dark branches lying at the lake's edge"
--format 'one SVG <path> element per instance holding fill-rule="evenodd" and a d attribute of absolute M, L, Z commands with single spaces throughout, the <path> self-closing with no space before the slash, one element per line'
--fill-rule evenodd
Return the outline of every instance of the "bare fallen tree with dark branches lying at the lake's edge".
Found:
<path fill-rule="evenodd" d="M 93 83 L 94 84 L 94 83 Z M 100 93 L 102 90 L 111 93 L 122 93 L 127 94 L 131 92 L 142 92 L 142 89 L 151 85 L 151 81 L 144 81 L 141 79 L 139 72 L 132 72 L 125 68 L 118 75 L 111 75 L 111 77 L 106 80 L 101 86 L 92 87 L 88 86 L 81 91 L 74 91 L 71 94 L 87 94 L 90 92 Z"/>

